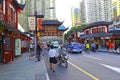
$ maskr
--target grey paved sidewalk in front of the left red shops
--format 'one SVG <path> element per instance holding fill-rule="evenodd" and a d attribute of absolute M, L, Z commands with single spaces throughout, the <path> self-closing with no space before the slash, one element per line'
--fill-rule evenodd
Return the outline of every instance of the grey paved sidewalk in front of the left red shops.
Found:
<path fill-rule="evenodd" d="M 29 60 L 29 53 L 7 64 L 0 64 L 0 80 L 49 80 L 44 59 Z"/>

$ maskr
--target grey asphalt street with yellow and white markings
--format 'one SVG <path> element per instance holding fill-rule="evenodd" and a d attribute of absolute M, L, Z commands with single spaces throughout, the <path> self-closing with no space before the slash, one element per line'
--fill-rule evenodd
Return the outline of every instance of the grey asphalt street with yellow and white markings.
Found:
<path fill-rule="evenodd" d="M 95 52 L 91 54 L 68 53 L 68 68 L 57 64 L 56 72 L 49 69 L 50 80 L 120 80 L 120 55 Z"/>

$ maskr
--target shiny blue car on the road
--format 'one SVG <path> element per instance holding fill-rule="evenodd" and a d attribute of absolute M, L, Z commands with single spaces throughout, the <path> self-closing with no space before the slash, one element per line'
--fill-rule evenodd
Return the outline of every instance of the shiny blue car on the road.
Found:
<path fill-rule="evenodd" d="M 83 51 L 83 46 L 82 46 L 82 44 L 80 44 L 80 43 L 75 43 L 75 42 L 73 42 L 73 43 L 71 43 L 69 46 L 67 46 L 67 51 L 68 51 L 68 52 L 71 52 L 71 53 L 73 53 L 73 52 L 82 53 L 82 51 Z"/>

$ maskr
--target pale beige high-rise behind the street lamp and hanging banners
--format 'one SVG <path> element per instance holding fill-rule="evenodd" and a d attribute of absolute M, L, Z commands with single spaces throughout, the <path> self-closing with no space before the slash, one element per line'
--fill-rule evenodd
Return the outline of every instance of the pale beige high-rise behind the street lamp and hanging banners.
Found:
<path fill-rule="evenodd" d="M 44 15 L 45 20 L 56 19 L 56 10 L 48 9 L 50 7 L 55 8 L 55 0 L 26 0 L 26 6 L 19 15 L 19 23 L 26 31 L 29 31 L 28 17 L 34 16 L 35 9 L 38 15 Z"/>

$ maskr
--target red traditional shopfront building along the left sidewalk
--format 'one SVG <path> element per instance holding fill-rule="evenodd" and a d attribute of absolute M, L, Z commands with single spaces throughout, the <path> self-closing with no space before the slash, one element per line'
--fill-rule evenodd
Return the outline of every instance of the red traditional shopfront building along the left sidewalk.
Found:
<path fill-rule="evenodd" d="M 18 0 L 0 0 L 0 62 L 2 63 L 13 61 L 15 56 L 20 56 L 26 51 L 25 43 L 28 38 L 18 30 L 18 15 L 24 6 L 25 3 L 20 3 Z"/>

